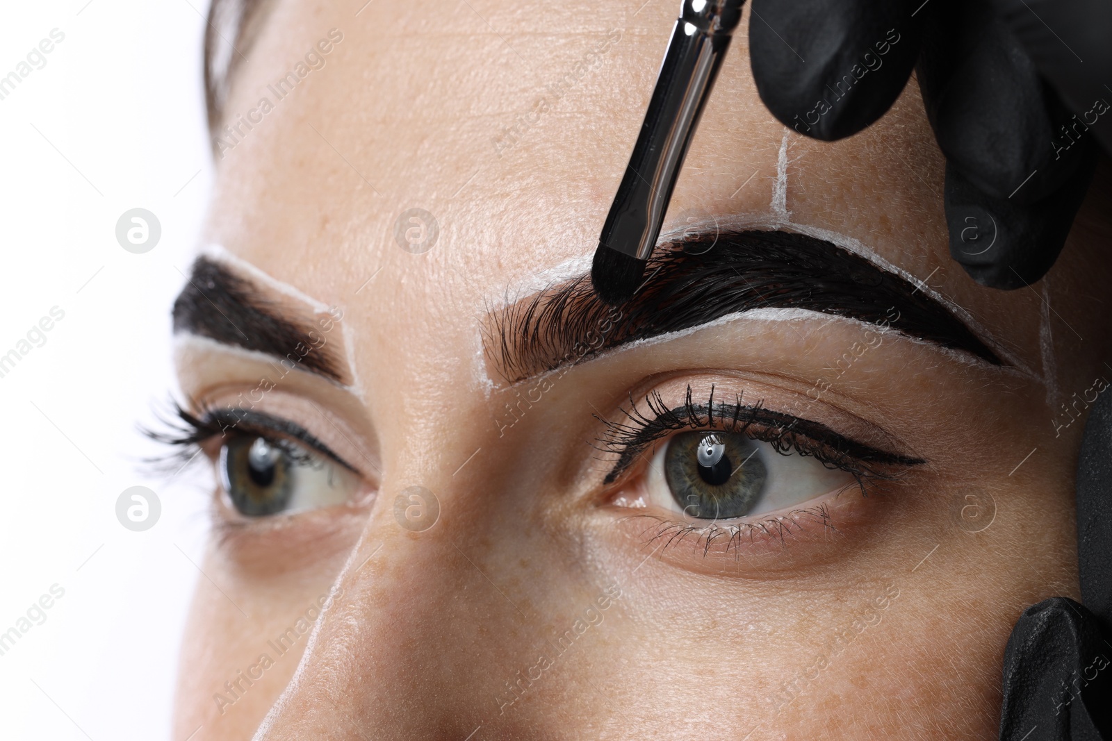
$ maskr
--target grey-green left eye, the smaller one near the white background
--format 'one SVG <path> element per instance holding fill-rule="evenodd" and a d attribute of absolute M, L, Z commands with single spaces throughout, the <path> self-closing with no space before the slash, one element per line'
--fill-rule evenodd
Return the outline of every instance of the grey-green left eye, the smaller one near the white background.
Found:
<path fill-rule="evenodd" d="M 234 434 L 218 465 L 227 502 L 246 517 L 342 504 L 359 488 L 355 472 L 285 438 Z"/>

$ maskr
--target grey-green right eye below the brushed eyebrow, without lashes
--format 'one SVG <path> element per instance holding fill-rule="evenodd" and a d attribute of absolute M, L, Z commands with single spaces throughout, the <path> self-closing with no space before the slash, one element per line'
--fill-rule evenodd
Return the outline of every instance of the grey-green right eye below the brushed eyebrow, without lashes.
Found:
<path fill-rule="evenodd" d="M 681 432 L 654 455 L 652 504 L 686 520 L 731 520 L 802 504 L 854 485 L 855 477 L 814 457 L 726 431 Z"/>

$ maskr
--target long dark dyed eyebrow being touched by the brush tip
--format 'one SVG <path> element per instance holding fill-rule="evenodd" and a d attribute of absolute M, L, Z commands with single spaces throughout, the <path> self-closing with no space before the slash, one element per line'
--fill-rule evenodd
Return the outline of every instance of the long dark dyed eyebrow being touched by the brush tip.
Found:
<path fill-rule="evenodd" d="M 603 303 L 584 274 L 487 312 L 484 347 L 507 382 L 575 364 L 628 342 L 751 309 L 806 309 L 1000 358 L 922 286 L 831 242 L 784 231 L 695 234 L 658 249 L 625 304 Z"/>

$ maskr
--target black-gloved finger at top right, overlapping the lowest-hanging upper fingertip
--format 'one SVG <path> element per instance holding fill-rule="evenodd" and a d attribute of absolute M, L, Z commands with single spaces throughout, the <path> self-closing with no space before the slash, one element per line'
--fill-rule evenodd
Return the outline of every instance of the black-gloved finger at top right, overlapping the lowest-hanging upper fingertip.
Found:
<path fill-rule="evenodd" d="M 1093 156 L 1083 126 L 1063 130 L 1073 114 L 984 1 L 927 16 L 919 83 L 946 160 L 989 196 L 1034 203 Z"/>

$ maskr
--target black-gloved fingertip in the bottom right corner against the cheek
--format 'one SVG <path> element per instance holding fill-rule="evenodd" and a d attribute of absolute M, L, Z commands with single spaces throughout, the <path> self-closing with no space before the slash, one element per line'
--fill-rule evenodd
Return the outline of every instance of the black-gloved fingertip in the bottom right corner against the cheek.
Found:
<path fill-rule="evenodd" d="M 1073 600 L 1024 610 L 1004 649 L 1000 741 L 1112 739 L 1110 657 L 1092 613 Z"/>

